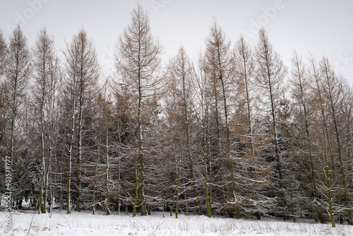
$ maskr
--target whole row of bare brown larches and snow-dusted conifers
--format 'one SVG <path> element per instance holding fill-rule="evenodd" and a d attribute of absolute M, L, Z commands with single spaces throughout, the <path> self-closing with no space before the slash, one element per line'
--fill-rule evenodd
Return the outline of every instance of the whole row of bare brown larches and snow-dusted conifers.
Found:
<path fill-rule="evenodd" d="M 39 214 L 352 225 L 352 85 L 325 57 L 285 65 L 257 38 L 213 23 L 196 59 L 181 47 L 163 61 L 138 5 L 107 77 L 84 29 L 62 50 L 45 28 L 32 47 L 20 26 L 0 33 L 1 196 L 9 160 L 12 208 Z"/>

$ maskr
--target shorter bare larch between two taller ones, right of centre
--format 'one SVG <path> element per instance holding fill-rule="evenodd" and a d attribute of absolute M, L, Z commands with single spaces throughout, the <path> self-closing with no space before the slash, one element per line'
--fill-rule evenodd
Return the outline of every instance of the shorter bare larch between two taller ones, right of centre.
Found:
<path fill-rule="evenodd" d="M 237 160 L 237 191 L 241 199 L 241 208 L 244 214 L 255 214 L 260 219 L 268 207 L 272 205 L 271 199 L 263 195 L 263 187 L 268 182 L 268 165 L 261 157 L 258 148 L 258 134 L 254 129 L 256 120 L 256 86 L 255 61 L 253 51 L 241 35 L 234 46 L 234 68 L 236 87 L 234 88 L 234 131 L 239 137 Z"/>

